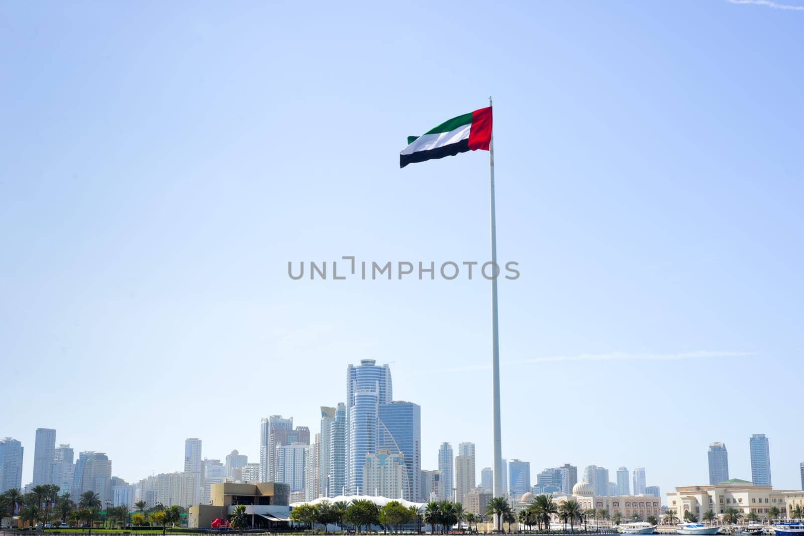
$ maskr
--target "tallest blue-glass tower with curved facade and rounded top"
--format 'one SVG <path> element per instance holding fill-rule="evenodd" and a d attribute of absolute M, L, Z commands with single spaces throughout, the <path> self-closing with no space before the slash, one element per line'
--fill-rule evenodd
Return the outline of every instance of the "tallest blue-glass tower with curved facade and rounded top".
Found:
<path fill-rule="evenodd" d="M 379 404 L 392 400 L 391 368 L 362 359 L 347 368 L 347 461 L 349 493 L 363 487 L 367 453 L 377 452 Z M 363 490 L 360 490 L 361 493 Z"/>

